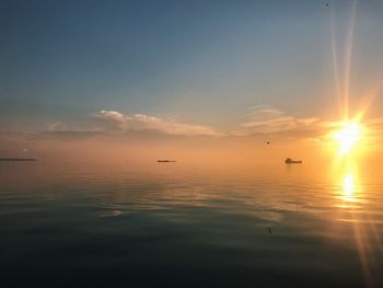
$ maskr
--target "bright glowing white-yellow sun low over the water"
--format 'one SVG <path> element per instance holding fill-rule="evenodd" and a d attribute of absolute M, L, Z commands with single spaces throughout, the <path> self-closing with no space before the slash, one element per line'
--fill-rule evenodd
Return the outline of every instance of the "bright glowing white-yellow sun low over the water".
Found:
<path fill-rule="evenodd" d="M 340 154 L 350 153 L 357 141 L 360 139 L 359 123 L 344 123 L 343 128 L 334 133 L 334 138 L 339 142 Z"/>

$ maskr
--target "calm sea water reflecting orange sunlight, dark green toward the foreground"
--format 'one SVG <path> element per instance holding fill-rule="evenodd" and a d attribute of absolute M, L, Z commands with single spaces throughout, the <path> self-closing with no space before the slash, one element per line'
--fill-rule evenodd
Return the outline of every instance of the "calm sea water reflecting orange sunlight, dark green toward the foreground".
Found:
<path fill-rule="evenodd" d="M 3 162 L 0 286 L 382 287 L 376 174 Z"/>

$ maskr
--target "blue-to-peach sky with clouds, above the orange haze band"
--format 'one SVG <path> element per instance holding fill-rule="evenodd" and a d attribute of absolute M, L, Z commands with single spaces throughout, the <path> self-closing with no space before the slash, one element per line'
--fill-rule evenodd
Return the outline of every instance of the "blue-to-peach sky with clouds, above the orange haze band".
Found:
<path fill-rule="evenodd" d="M 314 137 L 345 93 L 381 125 L 382 14 L 379 0 L 0 0 L 0 130 Z"/>

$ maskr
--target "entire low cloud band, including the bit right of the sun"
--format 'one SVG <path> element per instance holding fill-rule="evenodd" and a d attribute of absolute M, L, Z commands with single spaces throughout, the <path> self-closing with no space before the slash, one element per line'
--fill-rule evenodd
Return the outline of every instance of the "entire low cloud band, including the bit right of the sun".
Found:
<path fill-rule="evenodd" d="M 383 131 L 383 118 L 365 119 L 371 131 Z M 61 122 L 48 125 L 53 133 L 93 133 L 125 135 L 129 131 L 161 133 L 175 136 L 252 136 L 278 135 L 291 139 L 321 140 L 339 127 L 339 122 L 320 119 L 318 117 L 298 117 L 269 106 L 257 105 L 245 114 L 245 120 L 234 129 L 219 133 L 212 127 L 181 123 L 169 117 L 147 114 L 124 114 L 118 111 L 101 110 L 94 113 L 86 126 L 71 126 Z"/>

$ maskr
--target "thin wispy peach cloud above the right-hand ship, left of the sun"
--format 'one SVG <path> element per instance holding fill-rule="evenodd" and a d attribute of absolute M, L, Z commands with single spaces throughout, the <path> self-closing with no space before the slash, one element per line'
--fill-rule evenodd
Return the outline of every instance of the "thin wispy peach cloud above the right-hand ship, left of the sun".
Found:
<path fill-rule="evenodd" d="M 258 105 L 248 111 L 246 120 L 233 134 L 249 135 L 291 131 L 316 125 L 318 120 L 316 117 L 298 118 L 287 115 L 278 108 Z"/>

